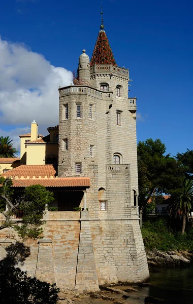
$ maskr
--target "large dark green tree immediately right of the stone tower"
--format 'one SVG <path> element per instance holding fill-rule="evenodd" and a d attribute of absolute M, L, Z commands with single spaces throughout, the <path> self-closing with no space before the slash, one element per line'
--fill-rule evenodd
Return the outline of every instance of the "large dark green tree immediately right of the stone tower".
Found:
<path fill-rule="evenodd" d="M 145 206 L 156 195 L 170 194 L 179 188 L 184 177 L 184 166 L 170 155 L 160 139 L 147 139 L 138 143 L 138 178 L 140 226 Z"/>

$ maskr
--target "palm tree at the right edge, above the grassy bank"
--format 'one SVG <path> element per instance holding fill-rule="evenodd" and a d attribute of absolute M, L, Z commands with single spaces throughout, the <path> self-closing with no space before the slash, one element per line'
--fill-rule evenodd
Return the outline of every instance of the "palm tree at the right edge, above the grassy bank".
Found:
<path fill-rule="evenodd" d="M 182 188 L 171 205 L 171 215 L 182 218 L 182 235 L 185 231 L 186 218 L 189 218 L 189 211 L 193 203 L 193 180 L 184 179 Z"/>

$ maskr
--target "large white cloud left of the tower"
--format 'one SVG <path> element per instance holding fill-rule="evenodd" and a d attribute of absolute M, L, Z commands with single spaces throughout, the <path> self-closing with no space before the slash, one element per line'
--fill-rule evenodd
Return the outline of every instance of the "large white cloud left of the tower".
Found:
<path fill-rule="evenodd" d="M 72 83 L 72 72 L 1 37 L 0 53 L 1 123 L 30 126 L 35 119 L 47 127 L 58 124 L 58 87 Z"/>

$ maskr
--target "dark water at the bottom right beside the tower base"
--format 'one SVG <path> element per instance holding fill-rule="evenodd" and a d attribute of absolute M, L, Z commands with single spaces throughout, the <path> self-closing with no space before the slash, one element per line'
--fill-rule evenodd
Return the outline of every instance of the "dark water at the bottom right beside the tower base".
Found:
<path fill-rule="evenodd" d="M 193 265 L 188 268 L 160 268 L 150 273 L 149 295 L 167 304 L 193 303 Z"/>

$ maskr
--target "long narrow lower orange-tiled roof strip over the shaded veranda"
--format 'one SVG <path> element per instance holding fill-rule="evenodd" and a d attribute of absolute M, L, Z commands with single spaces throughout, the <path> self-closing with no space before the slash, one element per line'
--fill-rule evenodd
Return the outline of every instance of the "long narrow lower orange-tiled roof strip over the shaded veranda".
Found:
<path fill-rule="evenodd" d="M 89 187 L 90 178 L 89 177 L 59 177 L 59 178 L 13 179 L 13 187 L 27 187 L 37 184 L 45 187 Z"/>

